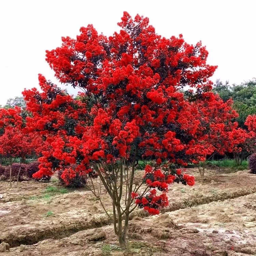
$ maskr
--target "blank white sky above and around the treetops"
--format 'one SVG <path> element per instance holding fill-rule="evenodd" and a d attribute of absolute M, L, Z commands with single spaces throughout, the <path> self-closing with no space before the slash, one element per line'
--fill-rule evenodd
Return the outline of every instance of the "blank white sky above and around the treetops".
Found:
<path fill-rule="evenodd" d="M 81 26 L 93 24 L 110 36 L 119 31 L 123 11 L 150 19 L 167 38 L 180 33 L 187 43 L 202 41 L 208 63 L 218 65 L 212 81 L 232 83 L 256 77 L 256 0 L 129 0 L 129 1 L 0 1 L 0 104 L 38 87 L 38 73 L 56 83 L 45 50 L 72 38 Z M 66 87 L 69 93 L 74 90 Z"/>

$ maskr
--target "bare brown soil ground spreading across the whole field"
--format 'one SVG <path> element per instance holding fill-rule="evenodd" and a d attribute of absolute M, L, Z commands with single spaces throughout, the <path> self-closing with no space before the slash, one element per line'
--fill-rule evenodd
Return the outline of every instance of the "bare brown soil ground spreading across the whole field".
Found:
<path fill-rule="evenodd" d="M 63 189 L 56 179 L 12 189 L 0 182 L 0 240 L 11 245 L 0 255 L 256 255 L 256 175 L 208 170 L 201 179 L 196 169 L 188 172 L 196 185 L 173 184 L 161 215 L 133 215 L 126 251 L 111 247 L 111 220 L 90 191 Z M 20 252 L 20 244 L 29 246 Z"/>

